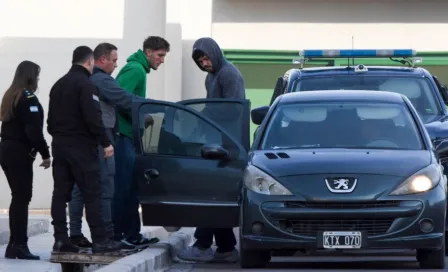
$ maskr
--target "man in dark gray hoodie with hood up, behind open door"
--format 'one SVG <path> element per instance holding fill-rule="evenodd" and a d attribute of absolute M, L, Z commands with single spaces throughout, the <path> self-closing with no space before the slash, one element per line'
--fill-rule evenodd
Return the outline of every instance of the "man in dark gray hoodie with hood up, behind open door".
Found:
<path fill-rule="evenodd" d="M 224 57 L 221 48 L 212 38 L 198 39 L 193 45 L 192 57 L 199 69 L 208 73 L 205 79 L 206 98 L 246 98 L 240 71 Z M 234 132 L 231 127 L 235 127 L 234 124 L 240 117 L 238 108 L 230 109 L 228 105 L 207 105 L 202 113 L 217 121 L 231 134 Z M 180 259 L 200 262 L 238 261 L 239 253 L 235 248 L 236 239 L 232 228 L 197 228 L 194 236 L 197 241 L 179 254 Z M 218 247 L 215 253 L 210 248 L 213 236 Z"/>

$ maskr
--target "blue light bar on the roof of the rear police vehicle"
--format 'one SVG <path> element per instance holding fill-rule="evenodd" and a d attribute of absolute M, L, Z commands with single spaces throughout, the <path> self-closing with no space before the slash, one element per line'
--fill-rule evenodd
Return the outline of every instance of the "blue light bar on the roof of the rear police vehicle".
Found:
<path fill-rule="evenodd" d="M 358 65 L 355 65 L 358 66 Z M 329 66 L 329 67 L 309 67 L 303 69 L 297 69 L 300 73 L 300 77 L 316 77 L 324 75 L 384 75 L 384 76 L 406 76 L 406 77 L 422 77 L 431 74 L 421 67 L 402 67 L 402 66 L 366 66 L 368 71 L 355 72 L 354 66 Z"/>

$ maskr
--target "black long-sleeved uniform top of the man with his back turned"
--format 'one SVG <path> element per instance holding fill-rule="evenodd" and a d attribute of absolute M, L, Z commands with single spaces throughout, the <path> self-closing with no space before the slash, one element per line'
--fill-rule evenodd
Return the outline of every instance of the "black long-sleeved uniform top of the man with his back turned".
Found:
<path fill-rule="evenodd" d="M 73 65 L 51 88 L 47 130 L 53 144 L 107 147 L 111 141 L 101 118 L 98 89 L 89 71 Z"/>

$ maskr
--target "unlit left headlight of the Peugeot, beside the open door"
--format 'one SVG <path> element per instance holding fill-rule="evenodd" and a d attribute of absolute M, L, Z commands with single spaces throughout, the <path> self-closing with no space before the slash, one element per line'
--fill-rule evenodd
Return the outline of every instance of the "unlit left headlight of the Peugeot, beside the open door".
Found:
<path fill-rule="evenodd" d="M 292 195 L 292 193 L 271 176 L 255 166 L 249 165 L 243 177 L 246 187 L 263 195 Z"/>

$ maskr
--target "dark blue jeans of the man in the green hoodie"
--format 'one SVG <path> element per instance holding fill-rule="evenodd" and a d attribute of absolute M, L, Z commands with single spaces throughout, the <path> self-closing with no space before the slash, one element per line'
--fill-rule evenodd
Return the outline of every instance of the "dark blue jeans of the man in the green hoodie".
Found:
<path fill-rule="evenodd" d="M 140 203 L 134 181 L 134 161 L 133 140 L 119 135 L 115 145 L 115 192 L 112 204 L 116 240 L 133 241 L 140 236 Z"/>

